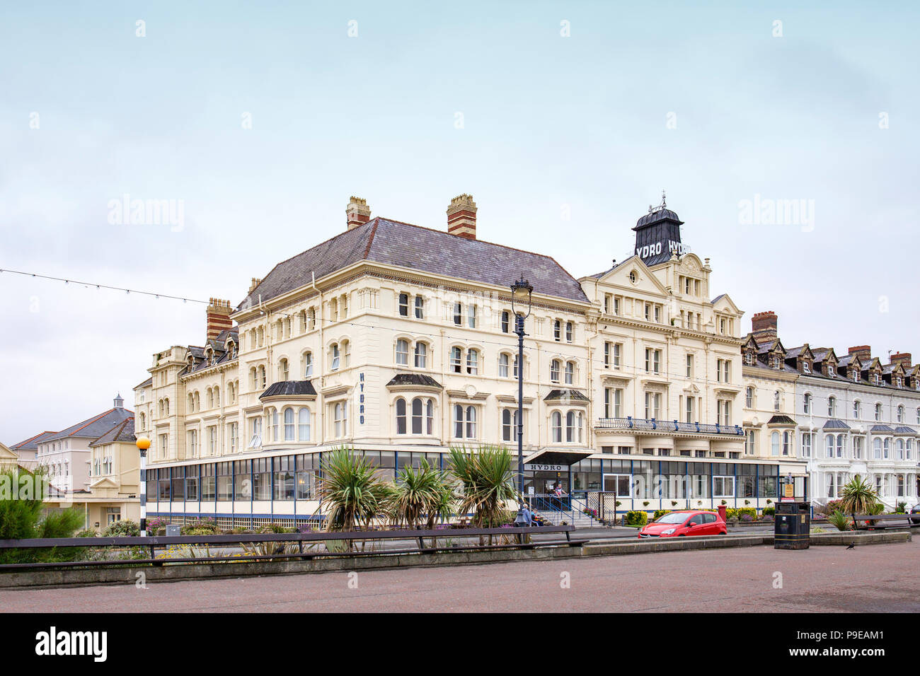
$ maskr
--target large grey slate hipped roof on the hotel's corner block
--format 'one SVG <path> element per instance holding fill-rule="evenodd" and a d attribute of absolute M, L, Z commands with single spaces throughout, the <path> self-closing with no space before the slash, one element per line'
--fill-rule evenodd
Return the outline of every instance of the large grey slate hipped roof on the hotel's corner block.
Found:
<path fill-rule="evenodd" d="M 553 258 L 374 218 L 276 265 L 237 306 L 245 309 L 362 260 L 507 288 L 523 275 L 534 292 L 588 303 L 581 284 Z"/>

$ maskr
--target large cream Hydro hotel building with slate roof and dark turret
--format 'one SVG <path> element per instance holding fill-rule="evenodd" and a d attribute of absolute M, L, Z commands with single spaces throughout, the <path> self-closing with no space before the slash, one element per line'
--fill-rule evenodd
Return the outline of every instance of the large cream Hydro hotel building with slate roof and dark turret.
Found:
<path fill-rule="evenodd" d="M 150 515 L 294 525 L 316 519 L 322 454 L 342 445 L 389 476 L 443 465 L 452 445 L 516 449 L 519 368 L 527 492 L 764 507 L 780 476 L 805 474 L 745 444 L 742 310 L 710 291 L 708 259 L 663 200 L 633 228 L 633 256 L 581 278 L 481 240 L 476 214 L 461 195 L 431 229 L 351 198 L 340 232 L 239 304 L 213 299 L 203 345 L 155 354 L 134 390 L 137 434 L 153 441 Z M 534 292 L 519 366 L 522 276 Z"/>

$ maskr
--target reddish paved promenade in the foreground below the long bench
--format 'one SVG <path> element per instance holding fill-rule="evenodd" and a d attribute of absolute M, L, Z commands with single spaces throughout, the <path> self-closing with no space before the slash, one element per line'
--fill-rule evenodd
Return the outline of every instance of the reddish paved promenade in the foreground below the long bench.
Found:
<path fill-rule="evenodd" d="M 4 612 L 920 612 L 920 543 L 739 547 L 464 567 L 59 590 L 2 590 Z M 781 574 L 782 588 L 775 588 Z M 564 583 L 568 580 L 569 586 Z M 356 588 L 355 588 L 356 585 Z"/>

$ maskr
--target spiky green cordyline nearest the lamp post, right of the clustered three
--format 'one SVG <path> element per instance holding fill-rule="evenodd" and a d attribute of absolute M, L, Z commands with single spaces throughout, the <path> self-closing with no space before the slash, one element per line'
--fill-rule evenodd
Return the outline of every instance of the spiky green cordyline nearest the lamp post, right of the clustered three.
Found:
<path fill-rule="evenodd" d="M 470 453 L 451 447 L 451 469 L 460 481 L 460 514 L 472 513 L 479 528 L 494 528 L 512 520 L 507 500 L 516 497 L 512 453 L 504 446 L 483 445 Z"/>

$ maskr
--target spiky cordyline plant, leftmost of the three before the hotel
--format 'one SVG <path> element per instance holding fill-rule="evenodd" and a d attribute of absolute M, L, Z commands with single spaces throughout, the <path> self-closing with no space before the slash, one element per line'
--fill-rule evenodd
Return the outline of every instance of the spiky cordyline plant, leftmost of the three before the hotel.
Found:
<path fill-rule="evenodd" d="M 364 458 L 351 449 L 326 453 L 316 496 L 319 510 L 326 514 L 326 530 L 353 531 L 368 527 L 390 509 L 393 487 L 385 483 Z"/>

